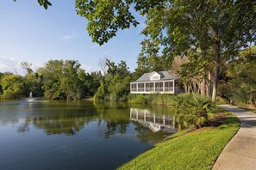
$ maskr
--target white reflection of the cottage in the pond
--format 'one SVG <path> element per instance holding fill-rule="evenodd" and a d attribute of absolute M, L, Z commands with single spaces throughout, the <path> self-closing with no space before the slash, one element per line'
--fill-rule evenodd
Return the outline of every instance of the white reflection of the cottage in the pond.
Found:
<path fill-rule="evenodd" d="M 153 132 L 177 132 L 172 116 L 156 115 L 147 109 L 130 108 L 130 120 L 147 125 Z"/>

